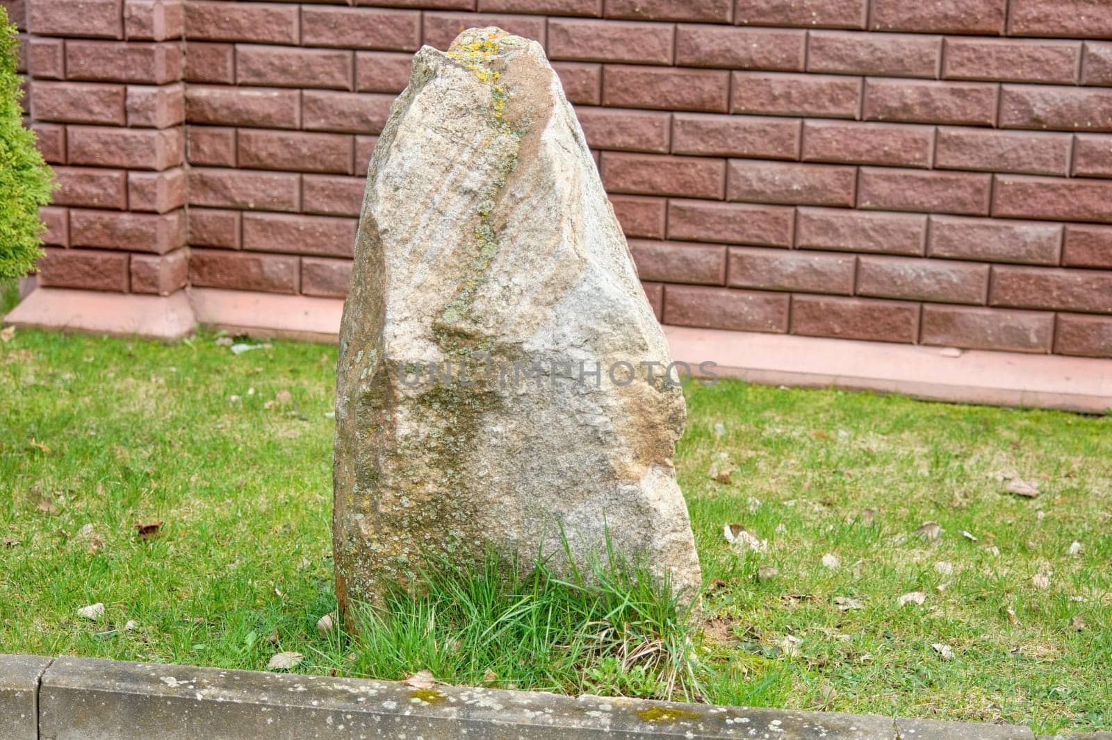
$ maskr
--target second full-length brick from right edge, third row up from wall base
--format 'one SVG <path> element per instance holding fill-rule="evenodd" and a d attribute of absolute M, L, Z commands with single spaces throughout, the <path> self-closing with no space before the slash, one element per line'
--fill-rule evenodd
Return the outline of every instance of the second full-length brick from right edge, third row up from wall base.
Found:
<path fill-rule="evenodd" d="M 795 246 L 847 252 L 923 254 L 926 217 L 826 208 L 798 209 Z"/>

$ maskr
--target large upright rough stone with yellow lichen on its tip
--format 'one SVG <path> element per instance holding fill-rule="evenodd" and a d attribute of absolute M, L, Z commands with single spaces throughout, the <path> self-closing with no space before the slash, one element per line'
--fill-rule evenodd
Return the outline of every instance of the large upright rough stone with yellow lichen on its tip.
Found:
<path fill-rule="evenodd" d="M 380 602 L 429 553 L 565 569 L 564 537 L 578 567 L 608 537 L 689 600 L 669 362 L 539 44 L 488 28 L 420 49 L 370 161 L 340 328 L 340 602 Z"/>

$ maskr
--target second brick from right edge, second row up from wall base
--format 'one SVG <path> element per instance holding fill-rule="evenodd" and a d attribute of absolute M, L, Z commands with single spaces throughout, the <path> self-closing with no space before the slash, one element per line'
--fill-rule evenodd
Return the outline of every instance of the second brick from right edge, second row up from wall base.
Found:
<path fill-rule="evenodd" d="M 989 266 L 866 254 L 858 259 L 857 294 L 940 303 L 984 303 L 989 299 Z"/>

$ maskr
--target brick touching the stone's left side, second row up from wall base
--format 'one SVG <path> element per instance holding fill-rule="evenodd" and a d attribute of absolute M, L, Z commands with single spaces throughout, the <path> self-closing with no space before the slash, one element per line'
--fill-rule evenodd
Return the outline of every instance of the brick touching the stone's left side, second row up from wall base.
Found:
<path fill-rule="evenodd" d="M 244 249 L 351 257 L 355 229 L 355 219 L 245 213 Z"/>

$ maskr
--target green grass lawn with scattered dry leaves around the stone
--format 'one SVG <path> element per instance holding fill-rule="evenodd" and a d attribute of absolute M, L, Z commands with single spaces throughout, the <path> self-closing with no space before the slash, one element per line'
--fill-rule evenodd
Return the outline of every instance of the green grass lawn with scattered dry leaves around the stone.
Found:
<path fill-rule="evenodd" d="M 212 336 L 0 342 L 0 652 L 262 669 L 298 651 L 314 673 L 665 692 L 613 653 L 562 659 L 559 636 L 532 663 L 484 652 L 444 603 L 359 643 L 318 634 L 335 359 Z M 733 382 L 688 406 L 705 699 L 1112 728 L 1112 418 Z M 1016 478 L 1040 494 L 1005 492 Z M 728 544 L 731 523 L 762 551 Z"/>

